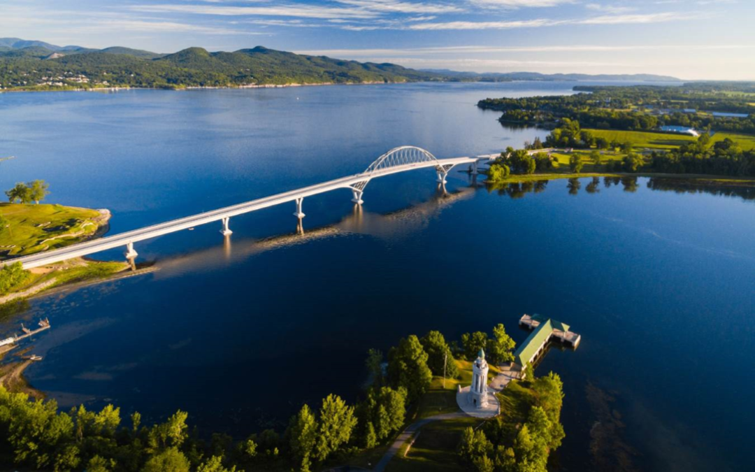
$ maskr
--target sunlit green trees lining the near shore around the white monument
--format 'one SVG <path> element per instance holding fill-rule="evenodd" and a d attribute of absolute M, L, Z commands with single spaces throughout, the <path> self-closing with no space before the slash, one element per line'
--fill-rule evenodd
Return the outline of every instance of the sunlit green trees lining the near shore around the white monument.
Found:
<path fill-rule="evenodd" d="M 430 388 L 433 375 L 445 372 L 449 378 L 458 377 L 455 357 L 471 360 L 484 348 L 487 359 L 499 364 L 513 359 L 513 347 L 513 340 L 501 324 L 494 327 L 492 336 L 485 332 L 467 333 L 460 344 L 449 344 L 436 331 L 422 338 L 410 335 L 389 350 L 387 366 L 383 353 L 368 352 L 371 384 L 356 405 L 349 406 L 331 394 L 316 408 L 302 406 L 282 433 L 264 430 L 244 440 L 222 433 L 202 439 L 196 428 L 190 430 L 186 424 L 186 412 L 178 411 L 166 421 L 149 426 L 141 423 L 138 412 L 123 421 L 120 409 L 112 405 L 99 412 L 90 412 L 84 406 L 59 412 L 54 400 L 29 401 L 26 393 L 11 393 L 0 387 L 0 462 L 56 471 L 232 472 L 292 468 L 306 472 L 392 439 L 406 423 L 407 412 Z M 538 397 L 536 406 L 544 409 L 547 422 L 535 412 L 528 421 L 529 432 L 515 432 L 505 421 L 498 425 L 494 421 L 486 427 L 489 441 L 513 448 L 513 452 L 504 451 L 507 464 L 529 464 L 531 452 L 525 451 L 535 448 L 532 454 L 541 457 L 559 443 L 561 403 L 560 396 L 553 392 L 556 387 L 560 391 L 560 381 L 556 380 L 551 375 L 533 384 Z M 517 440 L 527 434 L 535 441 L 530 449 Z"/>

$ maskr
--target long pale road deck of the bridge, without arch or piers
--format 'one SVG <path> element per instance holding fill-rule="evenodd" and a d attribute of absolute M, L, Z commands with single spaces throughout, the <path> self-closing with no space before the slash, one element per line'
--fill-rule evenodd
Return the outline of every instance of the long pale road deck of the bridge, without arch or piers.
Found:
<path fill-rule="evenodd" d="M 361 174 L 354 174 L 347 177 L 328 180 L 327 182 L 322 182 L 322 184 L 310 185 L 309 187 L 290 190 L 288 192 L 278 193 L 273 196 L 251 200 L 250 202 L 239 203 L 237 205 L 218 208 L 217 210 L 213 211 L 206 211 L 204 213 L 178 218 L 177 220 L 167 221 L 165 223 L 155 224 L 149 227 L 143 227 L 138 230 L 126 231 L 125 233 L 119 233 L 113 236 L 106 236 L 88 242 L 81 242 L 79 244 L 66 246 L 65 248 L 54 249 L 53 251 L 45 251 L 35 255 L 24 256 L 22 258 L 14 258 L 9 261 L 5 261 L 3 265 L 21 262 L 24 269 L 41 267 L 47 264 L 54 264 L 55 262 L 66 261 L 67 259 L 79 258 L 85 255 L 94 254 L 95 252 L 106 251 L 107 249 L 122 247 L 128 245 L 129 243 L 143 241 L 144 239 L 151 239 L 168 233 L 175 233 L 180 230 L 197 227 L 201 224 L 221 221 L 223 220 L 223 218 L 249 213 L 251 211 L 268 208 L 274 205 L 281 205 L 282 203 L 286 202 L 294 202 L 297 199 L 301 199 L 307 196 L 313 196 L 319 193 L 325 193 L 336 189 L 348 189 L 351 188 L 354 184 L 369 181 L 377 177 L 384 177 L 386 175 L 396 174 L 398 172 L 411 171 L 415 168 L 430 168 L 436 167 L 437 165 L 471 164 L 473 162 L 479 162 L 481 160 L 495 159 L 495 156 L 498 155 L 437 159 L 434 162 L 416 162 L 405 165 L 396 165 L 392 168 L 381 169 L 379 171 L 362 172 Z"/>

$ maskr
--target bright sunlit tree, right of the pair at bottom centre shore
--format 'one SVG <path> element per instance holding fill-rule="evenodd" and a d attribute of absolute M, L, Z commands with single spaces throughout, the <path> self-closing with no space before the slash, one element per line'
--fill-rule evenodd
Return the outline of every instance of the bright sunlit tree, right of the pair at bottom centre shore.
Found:
<path fill-rule="evenodd" d="M 316 460 L 325 461 L 329 455 L 349 442 L 356 427 L 356 416 L 353 406 L 347 406 L 340 396 L 331 393 L 322 400 L 319 418 L 313 455 Z"/>

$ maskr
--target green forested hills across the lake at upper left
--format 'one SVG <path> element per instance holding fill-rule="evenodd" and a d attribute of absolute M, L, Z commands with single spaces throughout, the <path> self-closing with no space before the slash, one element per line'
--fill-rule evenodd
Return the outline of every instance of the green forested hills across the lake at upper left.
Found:
<path fill-rule="evenodd" d="M 350 84 L 441 77 L 396 64 L 305 56 L 261 46 L 213 53 L 188 48 L 167 55 L 128 48 L 62 52 L 41 46 L 0 49 L 0 87 L 5 89 Z"/>

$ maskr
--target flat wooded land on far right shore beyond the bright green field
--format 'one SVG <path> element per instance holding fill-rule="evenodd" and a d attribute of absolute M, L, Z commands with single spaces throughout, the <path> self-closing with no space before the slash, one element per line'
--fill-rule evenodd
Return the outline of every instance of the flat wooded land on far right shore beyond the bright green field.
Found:
<path fill-rule="evenodd" d="M 664 125 L 701 131 L 755 133 L 755 84 L 701 82 L 676 86 L 578 86 L 569 96 L 487 98 L 478 106 L 503 112 L 500 121 L 555 126 L 569 118 L 584 128 L 632 131 Z M 736 113 L 745 116 L 716 116 Z"/>

